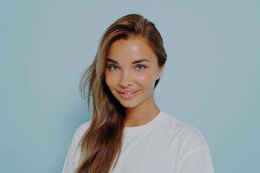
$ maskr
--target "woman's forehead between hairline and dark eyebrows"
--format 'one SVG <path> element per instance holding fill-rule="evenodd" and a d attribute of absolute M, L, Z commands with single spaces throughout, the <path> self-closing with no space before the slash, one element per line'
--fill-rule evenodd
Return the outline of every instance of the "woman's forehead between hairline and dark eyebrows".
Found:
<path fill-rule="evenodd" d="M 157 62 L 157 57 L 151 46 L 141 37 L 115 40 L 110 45 L 107 58 L 116 60 L 119 63 L 136 61 L 138 59 L 148 59 L 151 62 Z"/>

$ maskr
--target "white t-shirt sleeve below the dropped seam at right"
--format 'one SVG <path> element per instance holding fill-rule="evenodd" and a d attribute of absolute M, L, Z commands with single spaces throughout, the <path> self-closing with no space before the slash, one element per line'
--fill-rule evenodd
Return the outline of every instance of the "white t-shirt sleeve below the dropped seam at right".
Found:
<path fill-rule="evenodd" d="M 180 173 L 214 173 L 208 147 L 187 156 L 182 163 Z"/>

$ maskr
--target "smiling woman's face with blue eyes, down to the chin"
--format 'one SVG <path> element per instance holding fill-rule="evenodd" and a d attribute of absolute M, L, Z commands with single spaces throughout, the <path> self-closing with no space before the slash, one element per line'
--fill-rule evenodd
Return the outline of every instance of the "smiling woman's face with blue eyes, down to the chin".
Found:
<path fill-rule="evenodd" d="M 163 67 L 158 66 L 156 55 L 143 38 L 118 39 L 110 45 L 105 80 L 124 107 L 149 106 L 154 102 L 155 81 L 162 71 Z"/>

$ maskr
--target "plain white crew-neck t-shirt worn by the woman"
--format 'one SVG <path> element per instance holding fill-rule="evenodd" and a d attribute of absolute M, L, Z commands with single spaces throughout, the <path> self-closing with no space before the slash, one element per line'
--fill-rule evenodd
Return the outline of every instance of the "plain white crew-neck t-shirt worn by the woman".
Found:
<path fill-rule="evenodd" d="M 74 134 L 62 173 L 73 173 L 78 165 L 78 143 L 90 121 Z M 208 145 L 197 129 L 160 111 L 149 123 L 126 127 L 121 155 L 111 173 L 213 173 Z"/>

